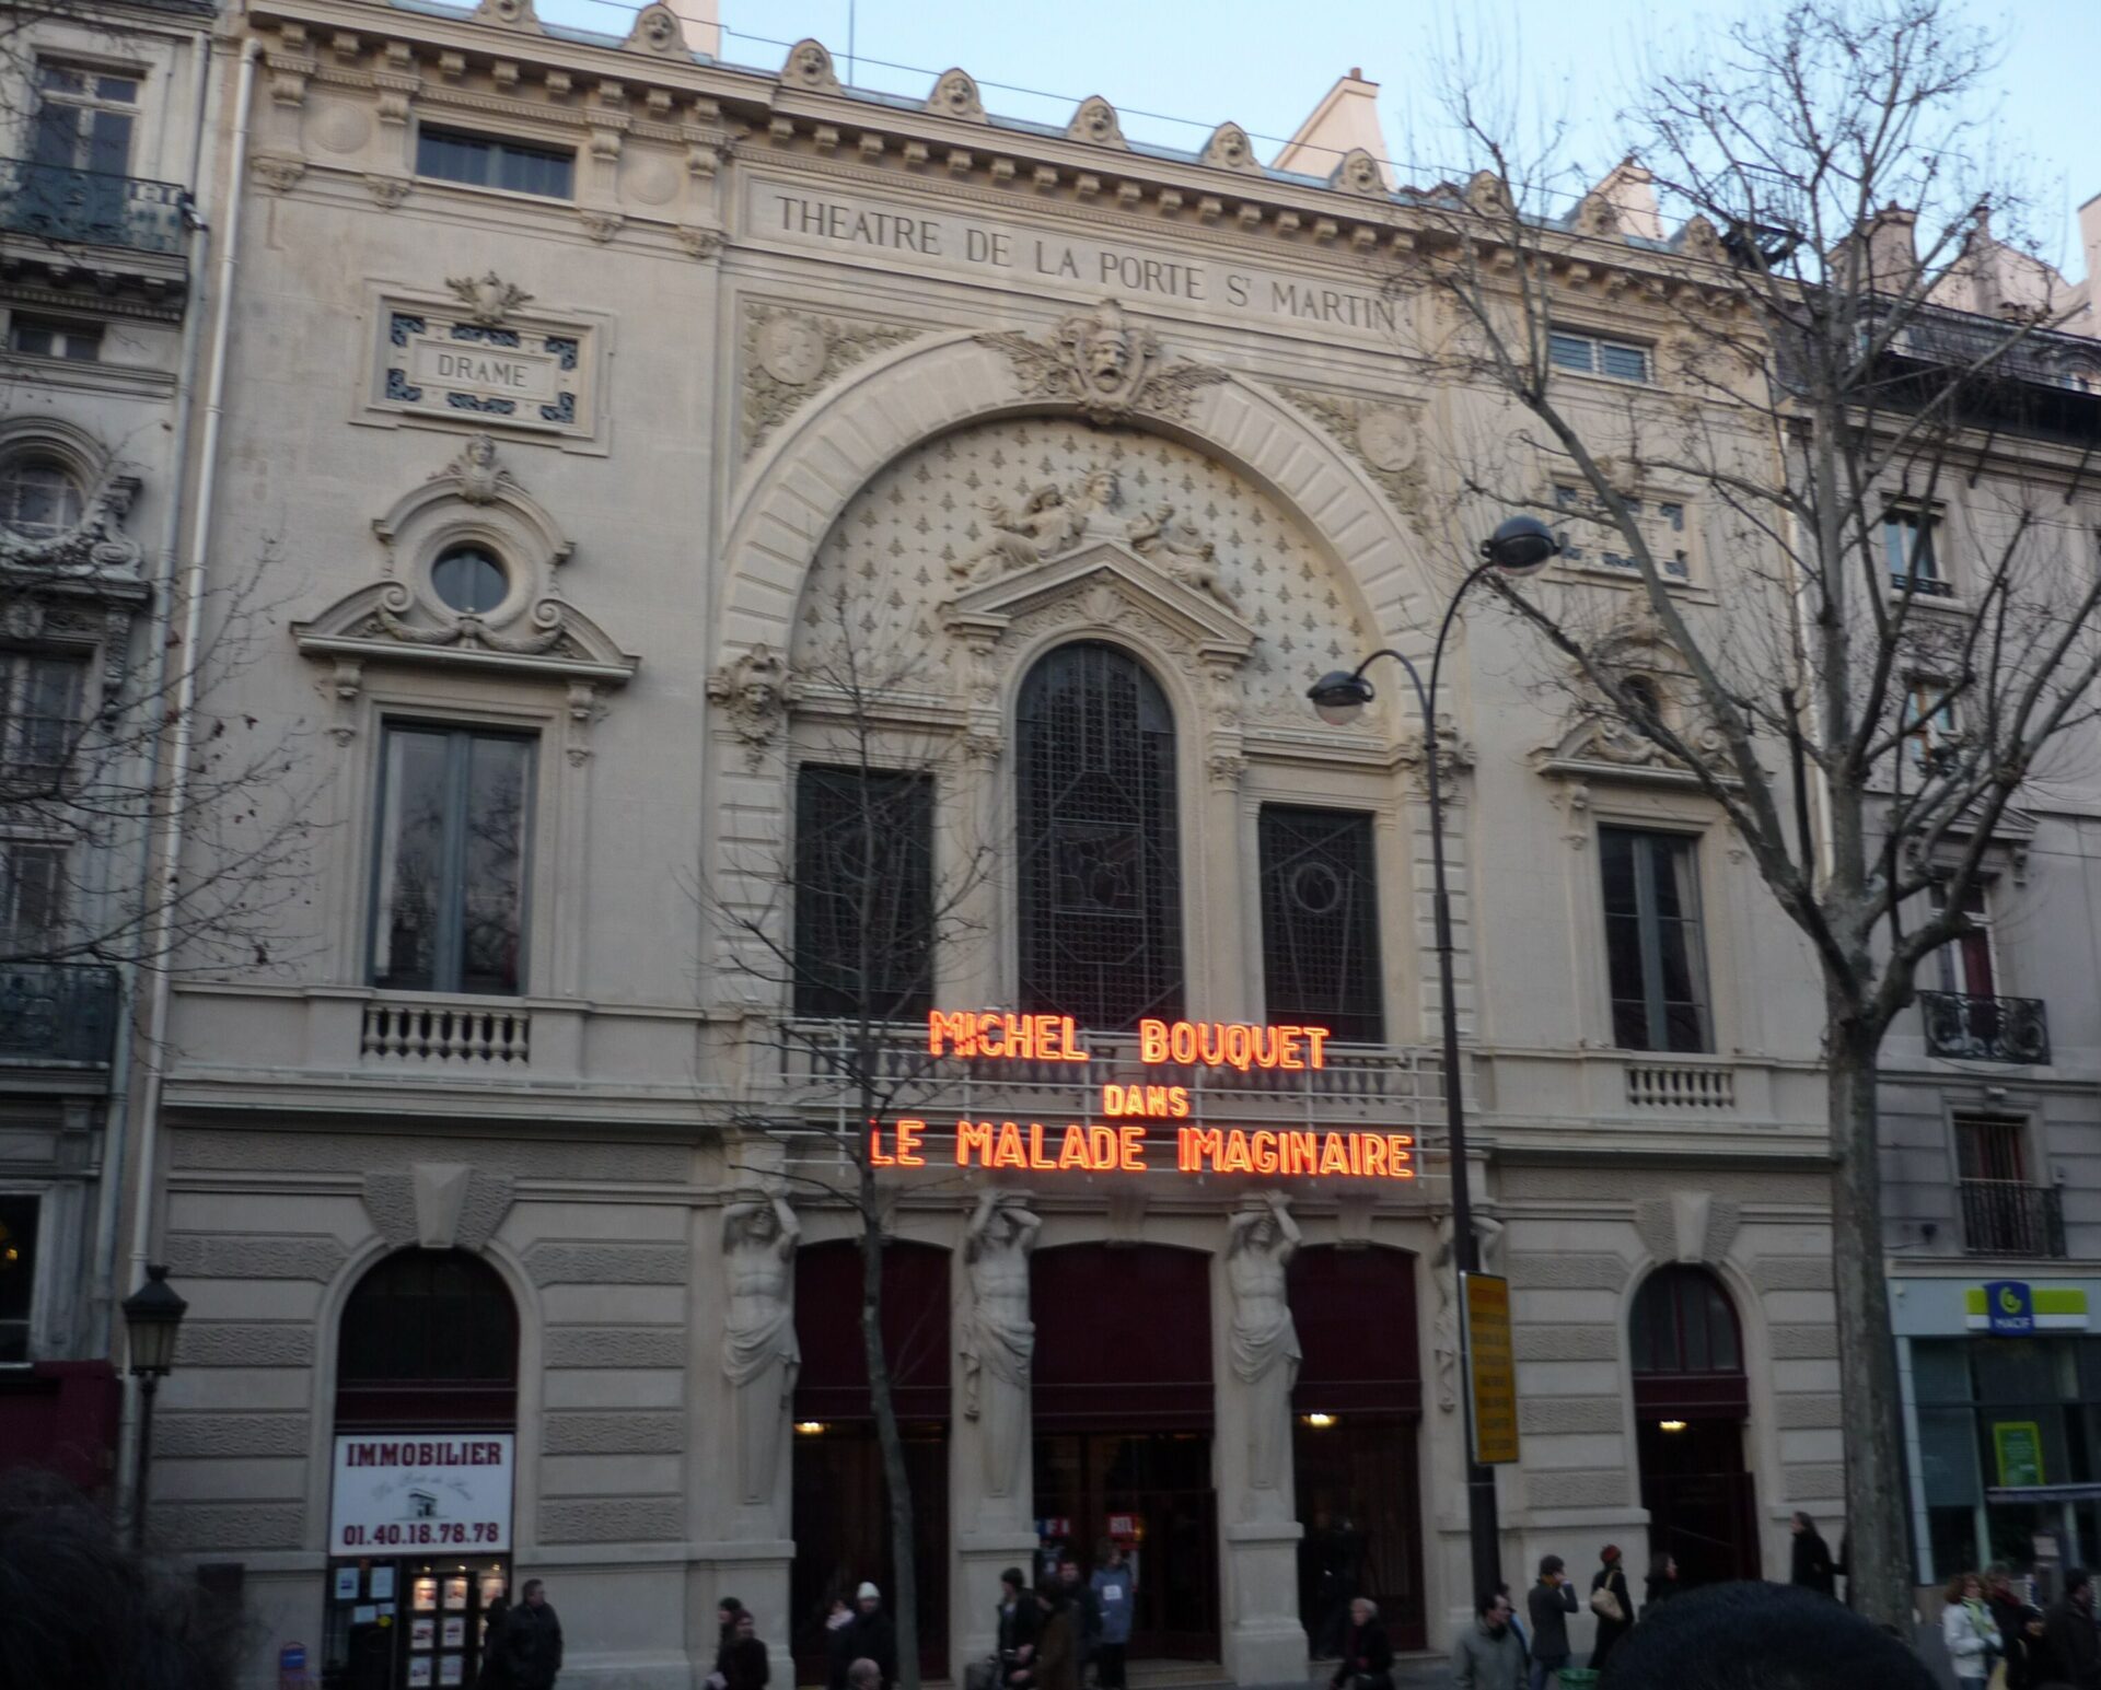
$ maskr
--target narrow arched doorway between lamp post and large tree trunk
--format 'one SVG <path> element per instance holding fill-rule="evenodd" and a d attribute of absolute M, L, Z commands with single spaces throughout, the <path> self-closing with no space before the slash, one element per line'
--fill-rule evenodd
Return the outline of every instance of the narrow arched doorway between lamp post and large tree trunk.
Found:
<path fill-rule="evenodd" d="M 1674 1556 L 1683 1585 L 1761 1577 L 1735 1304 L 1706 1268 L 1658 1268 L 1635 1293 L 1628 1348 L 1651 1558 Z"/>

